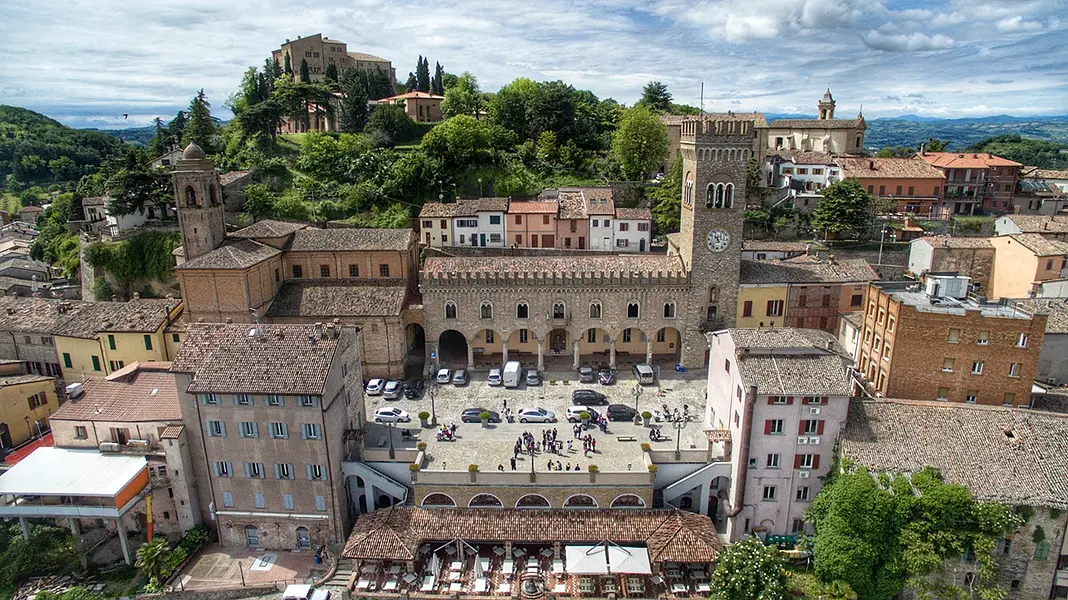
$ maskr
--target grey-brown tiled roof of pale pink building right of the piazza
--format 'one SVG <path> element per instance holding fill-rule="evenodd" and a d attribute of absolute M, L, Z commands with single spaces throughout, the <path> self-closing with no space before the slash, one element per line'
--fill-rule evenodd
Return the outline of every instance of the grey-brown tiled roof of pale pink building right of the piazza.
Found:
<path fill-rule="evenodd" d="M 747 385 L 758 394 L 848 396 L 846 365 L 837 354 L 745 354 L 738 368 Z"/>

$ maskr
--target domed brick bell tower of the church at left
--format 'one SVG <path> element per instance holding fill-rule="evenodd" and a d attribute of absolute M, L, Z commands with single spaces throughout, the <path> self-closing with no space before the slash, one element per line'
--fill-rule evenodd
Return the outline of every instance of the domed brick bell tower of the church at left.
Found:
<path fill-rule="evenodd" d="M 174 205 L 186 262 L 211 252 L 226 237 L 222 186 L 204 151 L 189 144 L 174 165 Z"/>

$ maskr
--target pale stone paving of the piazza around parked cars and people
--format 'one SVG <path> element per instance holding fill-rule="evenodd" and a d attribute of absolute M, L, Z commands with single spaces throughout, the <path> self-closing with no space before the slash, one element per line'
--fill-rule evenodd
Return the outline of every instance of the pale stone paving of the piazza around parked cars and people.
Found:
<path fill-rule="evenodd" d="M 575 424 L 566 421 L 567 408 L 571 404 L 571 392 L 579 389 L 590 389 L 600 392 L 609 397 L 610 404 L 623 404 L 629 407 L 634 406 L 633 390 L 635 385 L 634 377 L 629 372 L 616 374 L 617 380 L 612 385 L 599 385 L 597 383 L 579 383 L 575 372 L 547 373 L 541 385 L 527 386 L 518 389 L 506 389 L 503 386 L 491 386 L 485 381 L 484 373 L 476 373 L 472 381 L 464 388 L 454 385 L 439 385 L 435 397 L 435 407 L 439 425 L 456 424 L 455 442 L 438 442 L 435 429 L 422 429 L 419 426 L 419 412 L 430 411 L 430 398 L 424 393 L 418 400 L 397 399 L 386 400 L 381 396 L 368 396 L 366 398 L 367 414 L 374 413 L 375 409 L 382 406 L 397 407 L 411 413 L 412 423 L 408 428 L 417 436 L 414 440 L 402 440 L 399 427 L 393 431 L 394 447 L 414 448 L 420 440 L 427 443 L 426 470 L 441 469 L 449 471 L 466 471 L 471 463 L 478 464 L 480 470 L 489 472 L 497 469 L 498 464 L 503 464 L 505 470 L 511 471 L 509 459 L 513 456 L 513 446 L 523 431 L 534 435 L 535 442 L 541 440 L 541 430 L 556 428 L 557 440 L 564 442 L 563 454 L 543 453 L 540 449 L 535 456 L 534 468 L 536 471 L 548 471 L 548 461 L 551 458 L 553 463 L 559 460 L 565 467 L 571 463 L 572 469 L 578 464 L 582 471 L 590 464 L 596 464 L 600 471 L 627 471 L 640 470 L 642 467 L 642 442 L 649 442 L 655 449 L 675 449 L 676 431 L 671 424 L 660 423 L 661 432 L 665 439 L 660 442 L 649 441 L 648 428 L 627 422 L 609 422 L 608 432 L 602 433 L 599 428 L 591 426 L 588 432 L 597 440 L 597 451 L 584 457 L 582 443 L 575 440 L 572 429 Z M 555 382 L 553 382 L 555 381 Z M 665 372 L 660 382 L 663 396 L 657 395 L 656 385 L 642 386 L 642 393 L 638 399 L 640 411 L 654 409 L 668 405 L 672 410 L 675 407 L 682 410 L 682 405 L 689 405 L 691 414 L 697 414 L 703 419 L 705 414 L 705 389 L 706 379 L 703 375 L 680 374 Z M 556 423 L 498 423 L 483 427 L 480 423 L 461 423 L 460 412 L 466 408 L 485 408 L 503 413 L 504 401 L 507 400 L 508 408 L 515 413 L 519 408 L 540 407 L 555 413 Z M 604 407 L 594 407 L 602 410 Z M 503 417 L 503 415 L 502 415 Z M 370 421 L 370 417 L 368 417 Z M 375 423 L 367 425 L 367 446 L 387 447 L 389 431 L 388 427 Z M 704 448 L 706 427 L 700 421 L 690 422 L 681 431 L 682 449 Z M 583 432 L 583 436 L 585 432 Z M 621 441 L 618 437 L 632 437 L 633 441 Z M 567 452 L 567 441 L 575 440 L 574 448 Z M 530 471 L 530 457 L 520 455 L 516 464 L 517 471 Z"/>

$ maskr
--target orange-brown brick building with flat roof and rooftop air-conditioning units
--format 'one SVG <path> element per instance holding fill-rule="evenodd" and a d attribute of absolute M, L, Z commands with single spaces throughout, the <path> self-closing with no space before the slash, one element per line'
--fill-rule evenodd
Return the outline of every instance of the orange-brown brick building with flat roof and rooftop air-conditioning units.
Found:
<path fill-rule="evenodd" d="M 968 300 L 967 278 L 873 283 L 858 372 L 883 397 L 1027 406 L 1047 316 Z"/>

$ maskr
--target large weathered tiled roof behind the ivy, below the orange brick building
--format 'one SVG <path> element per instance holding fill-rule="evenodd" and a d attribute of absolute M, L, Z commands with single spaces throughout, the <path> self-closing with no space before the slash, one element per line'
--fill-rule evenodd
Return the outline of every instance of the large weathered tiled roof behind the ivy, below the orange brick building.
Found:
<path fill-rule="evenodd" d="M 853 401 L 843 456 L 876 472 L 925 467 L 978 500 L 1068 508 L 1068 415 L 915 400 Z"/>

